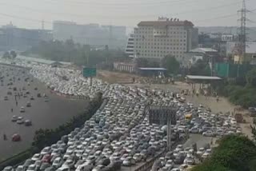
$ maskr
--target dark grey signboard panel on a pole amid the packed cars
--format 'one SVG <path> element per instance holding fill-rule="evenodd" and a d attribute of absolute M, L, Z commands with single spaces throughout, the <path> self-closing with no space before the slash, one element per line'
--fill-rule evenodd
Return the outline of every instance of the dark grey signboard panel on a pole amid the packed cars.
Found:
<path fill-rule="evenodd" d="M 171 125 L 175 125 L 176 111 L 174 107 L 150 106 L 150 124 L 167 125 L 167 121 L 170 121 Z"/>

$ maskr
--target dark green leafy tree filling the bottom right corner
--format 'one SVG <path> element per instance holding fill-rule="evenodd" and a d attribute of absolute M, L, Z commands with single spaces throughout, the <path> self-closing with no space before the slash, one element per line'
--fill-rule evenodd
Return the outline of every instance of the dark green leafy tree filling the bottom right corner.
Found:
<path fill-rule="evenodd" d="M 211 157 L 193 171 L 204 170 L 237 170 L 250 171 L 256 157 L 256 146 L 248 137 L 229 135 L 223 137 Z M 214 169 L 217 167 L 218 169 Z"/>

